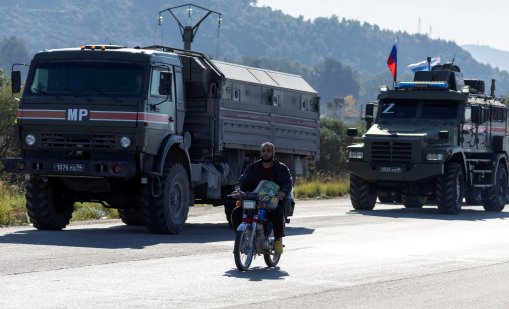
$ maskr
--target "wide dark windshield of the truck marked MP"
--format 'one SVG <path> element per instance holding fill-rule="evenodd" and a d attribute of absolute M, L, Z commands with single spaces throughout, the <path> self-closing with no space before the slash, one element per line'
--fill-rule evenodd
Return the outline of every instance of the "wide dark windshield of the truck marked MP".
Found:
<path fill-rule="evenodd" d="M 143 66 L 115 62 L 50 62 L 38 64 L 29 95 L 123 96 L 141 94 Z"/>

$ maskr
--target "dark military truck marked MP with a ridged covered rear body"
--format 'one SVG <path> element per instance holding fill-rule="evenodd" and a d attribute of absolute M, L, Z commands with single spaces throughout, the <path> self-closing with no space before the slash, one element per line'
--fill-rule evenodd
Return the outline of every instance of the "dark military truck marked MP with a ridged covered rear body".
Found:
<path fill-rule="evenodd" d="M 20 71 L 12 84 L 19 93 Z M 74 203 L 92 201 L 126 224 L 176 234 L 195 202 L 224 204 L 264 141 L 306 176 L 319 128 L 319 97 L 297 75 L 164 46 L 45 50 L 20 98 L 22 154 L 6 169 L 25 175 L 37 229 L 65 228 Z"/>

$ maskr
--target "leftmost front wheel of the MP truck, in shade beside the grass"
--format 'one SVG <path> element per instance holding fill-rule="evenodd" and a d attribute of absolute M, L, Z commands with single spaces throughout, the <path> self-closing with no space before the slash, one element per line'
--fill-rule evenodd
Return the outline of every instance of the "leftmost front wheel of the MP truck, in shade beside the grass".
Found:
<path fill-rule="evenodd" d="M 26 186 L 28 217 L 38 230 L 61 230 L 69 224 L 74 201 L 57 179 L 31 179 Z"/>

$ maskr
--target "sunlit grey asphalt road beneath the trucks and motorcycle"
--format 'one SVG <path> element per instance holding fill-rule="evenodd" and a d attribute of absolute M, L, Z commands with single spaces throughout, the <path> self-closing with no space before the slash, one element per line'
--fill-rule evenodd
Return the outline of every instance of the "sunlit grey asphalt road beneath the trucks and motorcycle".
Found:
<path fill-rule="evenodd" d="M 298 201 L 287 235 L 278 267 L 239 272 L 222 207 L 173 236 L 0 228 L 0 308 L 509 308 L 509 211 Z"/>

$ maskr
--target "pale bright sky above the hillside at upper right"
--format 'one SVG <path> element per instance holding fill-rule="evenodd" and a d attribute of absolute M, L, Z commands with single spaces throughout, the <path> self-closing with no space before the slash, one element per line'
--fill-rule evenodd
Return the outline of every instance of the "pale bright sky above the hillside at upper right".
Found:
<path fill-rule="evenodd" d="M 507 0 L 258 0 L 257 5 L 295 17 L 303 15 L 306 20 L 336 15 L 382 29 L 410 34 L 420 30 L 433 39 L 509 51 Z"/>

